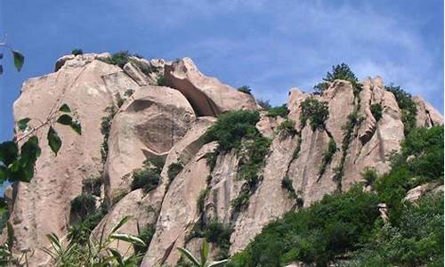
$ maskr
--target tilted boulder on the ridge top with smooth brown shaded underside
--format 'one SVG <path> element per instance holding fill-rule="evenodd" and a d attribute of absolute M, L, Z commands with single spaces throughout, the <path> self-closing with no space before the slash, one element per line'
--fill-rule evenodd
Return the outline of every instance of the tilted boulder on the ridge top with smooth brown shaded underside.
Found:
<path fill-rule="evenodd" d="M 214 77 L 206 77 L 190 58 L 166 63 L 166 84 L 178 89 L 199 116 L 216 116 L 235 109 L 256 109 L 255 99 Z"/>

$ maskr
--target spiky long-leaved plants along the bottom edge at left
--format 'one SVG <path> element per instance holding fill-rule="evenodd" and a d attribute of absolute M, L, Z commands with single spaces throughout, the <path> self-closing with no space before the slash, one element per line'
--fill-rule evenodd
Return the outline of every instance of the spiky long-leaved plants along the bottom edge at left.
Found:
<path fill-rule="evenodd" d="M 108 235 L 104 236 L 102 229 L 100 237 L 88 239 L 85 244 L 79 244 L 73 239 L 63 242 L 55 234 L 48 234 L 46 237 L 51 247 L 44 247 L 44 253 L 51 257 L 54 266 L 135 266 L 143 255 L 121 255 L 111 245 L 113 241 L 118 240 L 132 245 L 147 246 L 138 237 L 117 232 L 128 220 L 129 216 L 125 216 Z"/>

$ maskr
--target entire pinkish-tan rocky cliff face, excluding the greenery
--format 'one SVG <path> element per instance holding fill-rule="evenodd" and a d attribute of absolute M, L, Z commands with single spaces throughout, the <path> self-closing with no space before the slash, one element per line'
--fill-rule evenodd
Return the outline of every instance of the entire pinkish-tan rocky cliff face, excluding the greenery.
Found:
<path fill-rule="evenodd" d="M 387 172 L 388 155 L 404 139 L 401 109 L 380 77 L 362 81 L 360 92 L 343 80 L 330 83 L 322 94 L 292 89 L 287 118 L 295 122 L 295 131 L 279 132 L 285 117 L 260 112 L 256 128 L 271 138 L 271 146 L 248 205 L 234 210 L 231 204 L 244 184 L 237 178 L 242 157 L 235 150 L 217 153 L 209 165 L 208 155 L 217 143 L 205 144 L 202 136 L 223 112 L 259 109 L 255 99 L 206 77 L 188 58 L 174 62 L 134 58 L 122 69 L 103 62 L 107 58 L 107 53 L 65 56 L 57 61 L 56 72 L 25 82 L 14 103 L 16 121 L 23 117 L 44 120 L 54 107 L 67 103 L 83 129 L 82 135 L 58 129 L 63 145 L 57 157 L 44 148 L 46 138 L 39 135 L 43 154 L 37 159 L 35 177 L 30 183 L 13 185 L 10 222 L 15 249 L 35 250 L 34 266 L 49 263 L 38 249 L 48 244 L 45 234 L 67 234 L 73 223 L 70 203 L 85 193 L 85 181 L 93 177 L 103 183 L 98 202 L 109 205 L 93 235 L 104 225 L 109 231 L 130 214 L 133 217 L 122 232 L 137 235 L 138 228 L 146 225 L 154 229 L 142 266 L 174 265 L 180 258 L 175 247 L 197 249 L 201 239 L 192 235 L 197 223 L 230 225 L 229 253 L 233 254 L 271 220 L 361 182 L 360 172 L 366 167 Z M 163 86 L 158 86 L 160 79 L 165 80 Z M 326 101 L 324 127 L 301 123 L 301 103 L 306 99 Z M 420 97 L 414 101 L 418 126 L 443 124 L 440 112 L 429 103 Z M 371 108 L 376 104 L 382 108 L 378 117 Z M 353 116 L 358 119 L 352 122 Z M 110 123 L 109 130 L 104 128 L 104 119 Z M 326 162 L 333 142 L 336 149 Z M 166 163 L 156 188 L 135 189 L 133 171 L 146 167 L 147 159 L 159 158 Z M 181 168 L 171 174 L 175 165 Z M 296 198 L 282 187 L 285 178 Z M 123 243 L 114 246 L 122 252 L 133 249 Z M 212 247 L 214 255 L 219 250 Z"/>

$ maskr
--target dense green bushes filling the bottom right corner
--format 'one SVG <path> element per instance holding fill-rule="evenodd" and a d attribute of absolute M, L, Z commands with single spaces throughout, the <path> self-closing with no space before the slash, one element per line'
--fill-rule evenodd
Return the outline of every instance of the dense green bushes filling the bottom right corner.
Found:
<path fill-rule="evenodd" d="M 443 266 L 443 193 L 402 207 L 397 225 L 376 228 L 349 266 Z"/>

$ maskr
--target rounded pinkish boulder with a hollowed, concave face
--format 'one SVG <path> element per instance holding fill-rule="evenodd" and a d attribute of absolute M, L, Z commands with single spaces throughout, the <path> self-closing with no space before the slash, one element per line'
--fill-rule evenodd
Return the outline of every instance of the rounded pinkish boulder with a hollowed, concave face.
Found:
<path fill-rule="evenodd" d="M 190 103 L 174 89 L 142 86 L 118 110 L 109 133 L 106 191 L 129 190 L 131 173 L 146 158 L 166 157 L 195 120 Z"/>

